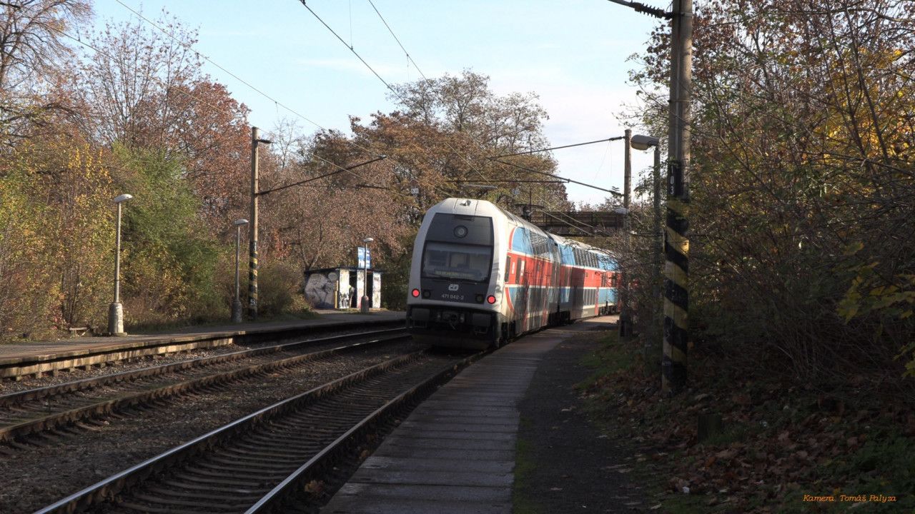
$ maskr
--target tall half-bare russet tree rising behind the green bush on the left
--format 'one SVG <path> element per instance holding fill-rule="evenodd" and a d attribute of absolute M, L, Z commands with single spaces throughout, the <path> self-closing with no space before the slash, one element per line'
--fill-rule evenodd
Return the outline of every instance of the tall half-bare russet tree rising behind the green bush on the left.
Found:
<path fill-rule="evenodd" d="M 166 13 L 156 26 L 164 32 L 141 20 L 108 24 L 92 39 L 80 75 L 86 131 L 180 161 L 204 219 L 221 230 L 247 201 L 249 110 L 202 74 L 195 31 Z"/>

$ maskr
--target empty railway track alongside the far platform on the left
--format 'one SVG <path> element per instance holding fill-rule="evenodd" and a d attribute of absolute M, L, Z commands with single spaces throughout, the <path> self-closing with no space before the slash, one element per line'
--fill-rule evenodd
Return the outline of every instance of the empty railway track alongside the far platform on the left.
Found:
<path fill-rule="evenodd" d="M 188 359 L 5 394 L 0 396 L 0 441 L 12 442 L 27 434 L 55 430 L 126 407 L 211 385 L 253 379 L 407 337 L 402 328 L 374 330 Z"/>

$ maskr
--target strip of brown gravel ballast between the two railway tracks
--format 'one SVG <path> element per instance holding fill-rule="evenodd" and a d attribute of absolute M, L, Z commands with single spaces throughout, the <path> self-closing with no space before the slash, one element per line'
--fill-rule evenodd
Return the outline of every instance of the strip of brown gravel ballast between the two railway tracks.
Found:
<path fill-rule="evenodd" d="M 417 347 L 385 345 L 359 355 L 308 362 L 261 380 L 242 380 L 99 423 L 48 434 L 38 446 L 0 446 L 0 512 L 31 512 L 245 414 Z"/>

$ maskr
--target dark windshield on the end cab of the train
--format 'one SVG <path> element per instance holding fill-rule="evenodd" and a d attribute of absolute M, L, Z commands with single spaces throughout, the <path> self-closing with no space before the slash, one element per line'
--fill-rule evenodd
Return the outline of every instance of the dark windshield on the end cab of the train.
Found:
<path fill-rule="evenodd" d="M 470 282 L 490 279 L 492 248 L 428 241 L 423 252 L 423 276 Z"/>

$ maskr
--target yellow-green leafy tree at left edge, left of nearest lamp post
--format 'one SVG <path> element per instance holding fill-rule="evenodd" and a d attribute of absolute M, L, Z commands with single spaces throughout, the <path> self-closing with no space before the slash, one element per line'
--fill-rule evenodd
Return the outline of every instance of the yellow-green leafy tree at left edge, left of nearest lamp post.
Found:
<path fill-rule="evenodd" d="M 0 337 L 103 326 L 114 235 L 102 154 L 59 134 L 22 142 L 13 156 L 0 178 Z"/>

